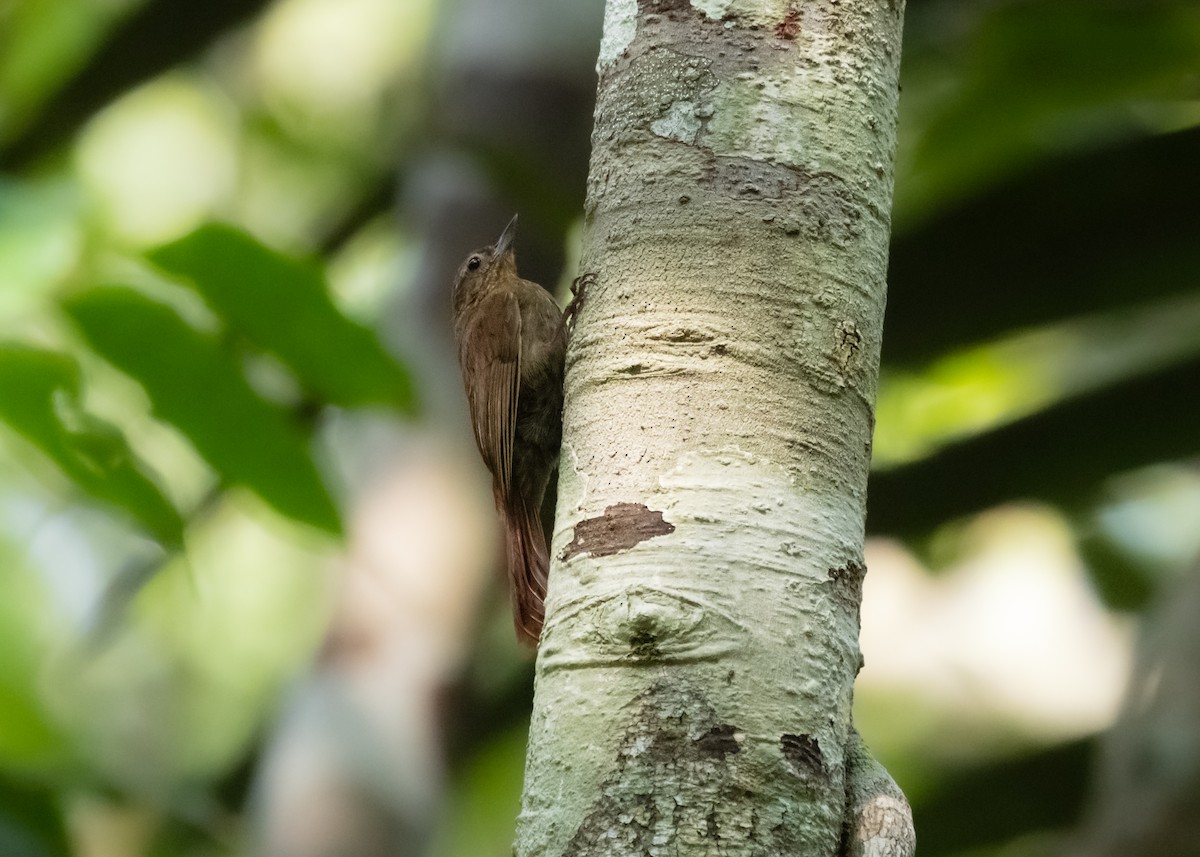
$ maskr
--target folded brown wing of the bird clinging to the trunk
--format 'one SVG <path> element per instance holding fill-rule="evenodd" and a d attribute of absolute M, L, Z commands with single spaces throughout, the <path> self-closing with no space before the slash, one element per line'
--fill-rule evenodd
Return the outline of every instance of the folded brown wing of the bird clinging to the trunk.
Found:
<path fill-rule="evenodd" d="M 521 385 L 521 310 L 516 295 L 496 293 L 481 301 L 460 343 L 460 358 L 475 443 L 494 486 L 506 498 L 512 485 Z"/>

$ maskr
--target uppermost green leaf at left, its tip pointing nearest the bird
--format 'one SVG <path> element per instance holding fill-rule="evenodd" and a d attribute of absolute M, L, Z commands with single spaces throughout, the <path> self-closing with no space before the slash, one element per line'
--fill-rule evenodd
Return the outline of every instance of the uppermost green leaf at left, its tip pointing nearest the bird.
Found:
<path fill-rule="evenodd" d="M 376 335 L 343 316 L 320 269 L 233 227 L 203 226 L 150 253 L 238 332 L 270 352 L 317 397 L 348 407 L 413 409 L 408 374 Z"/>

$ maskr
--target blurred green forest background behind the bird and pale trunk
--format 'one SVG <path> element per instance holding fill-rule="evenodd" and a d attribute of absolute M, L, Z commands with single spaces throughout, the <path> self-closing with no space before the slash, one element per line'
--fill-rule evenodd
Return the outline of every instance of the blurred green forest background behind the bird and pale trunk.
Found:
<path fill-rule="evenodd" d="M 510 853 L 449 331 L 599 0 L 0 0 L 0 855 Z M 860 731 L 923 856 L 1200 841 L 1200 7 L 908 0 Z"/>

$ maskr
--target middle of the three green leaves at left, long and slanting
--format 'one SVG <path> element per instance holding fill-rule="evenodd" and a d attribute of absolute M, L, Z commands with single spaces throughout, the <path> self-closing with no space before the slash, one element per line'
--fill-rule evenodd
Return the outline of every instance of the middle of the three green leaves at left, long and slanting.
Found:
<path fill-rule="evenodd" d="M 121 286 L 89 289 L 64 308 L 100 354 L 142 383 L 155 414 L 184 432 L 226 480 L 289 517 L 341 532 L 305 432 L 254 392 L 216 337 Z"/>

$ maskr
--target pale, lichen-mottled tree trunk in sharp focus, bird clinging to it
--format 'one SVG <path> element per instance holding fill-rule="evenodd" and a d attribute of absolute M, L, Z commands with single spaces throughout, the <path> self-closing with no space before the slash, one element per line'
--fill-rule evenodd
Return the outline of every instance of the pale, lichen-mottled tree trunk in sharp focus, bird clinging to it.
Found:
<path fill-rule="evenodd" d="M 902 6 L 608 0 L 518 855 L 912 851 L 851 726 Z"/>

